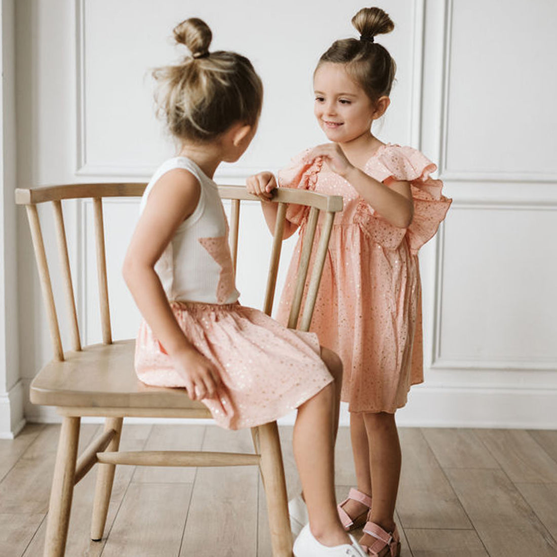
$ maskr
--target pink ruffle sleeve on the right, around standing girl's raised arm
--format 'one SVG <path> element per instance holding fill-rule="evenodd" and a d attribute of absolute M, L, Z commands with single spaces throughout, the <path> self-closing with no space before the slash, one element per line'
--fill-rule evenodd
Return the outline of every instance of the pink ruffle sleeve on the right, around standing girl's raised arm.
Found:
<path fill-rule="evenodd" d="M 434 236 L 445 218 L 452 199 L 442 194 L 441 180 L 431 178 L 436 165 L 418 150 L 399 145 L 385 145 L 369 160 L 366 172 L 387 185 L 392 181 L 410 182 L 414 201 L 412 223 L 406 229 L 387 223 L 363 199 L 358 203 L 354 220 L 364 233 L 388 248 L 406 236 L 413 253 Z"/>

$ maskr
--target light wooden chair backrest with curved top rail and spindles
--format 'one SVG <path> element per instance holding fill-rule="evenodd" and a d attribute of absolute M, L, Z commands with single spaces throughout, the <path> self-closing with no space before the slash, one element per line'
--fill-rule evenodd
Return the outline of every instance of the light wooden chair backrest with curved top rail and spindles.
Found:
<path fill-rule="evenodd" d="M 66 231 L 62 212 L 62 201 L 70 199 L 92 199 L 95 222 L 95 246 L 97 262 L 97 281 L 99 285 L 99 309 L 102 329 L 102 342 L 112 343 L 112 331 L 110 323 L 108 280 L 106 275 L 106 253 L 105 253 L 105 234 L 102 214 L 102 199 L 113 197 L 140 197 L 146 187 L 145 183 L 111 183 L 111 184 L 70 184 L 57 185 L 52 187 L 41 187 L 33 189 L 17 189 L 16 203 L 25 205 L 27 217 L 31 228 L 31 237 L 35 249 L 38 273 L 41 282 L 43 300 L 45 301 L 48 326 L 50 329 L 54 358 L 62 361 L 64 359 L 60 328 L 56 312 L 55 297 L 52 291 L 50 271 L 47 262 L 45 244 L 41 229 L 41 222 L 37 211 L 37 204 L 51 203 L 54 212 L 54 222 L 56 229 L 56 240 L 58 246 L 59 264 L 62 278 L 62 285 L 66 299 L 67 312 L 69 314 L 71 349 L 81 350 L 81 340 L 79 324 L 77 320 L 76 300 L 72 286 L 70 270 L 70 258 L 66 241 Z M 247 193 L 246 188 L 240 186 L 219 186 L 219 193 L 222 199 L 231 200 L 232 211 L 230 218 L 230 246 L 234 270 L 236 270 L 238 252 L 238 230 L 240 226 L 240 202 L 253 201 L 257 197 Z M 321 280 L 321 272 L 325 262 L 325 256 L 329 245 L 329 237 L 333 227 L 335 213 L 343 208 L 343 200 L 339 196 L 324 196 L 323 194 L 296 189 L 278 189 L 274 202 L 278 203 L 277 221 L 271 258 L 268 267 L 267 286 L 265 291 L 265 301 L 263 311 L 271 315 L 275 288 L 280 262 L 282 235 L 285 226 L 286 207 L 289 203 L 296 203 L 308 207 L 308 217 L 300 265 L 296 274 L 296 287 L 292 300 L 290 318 L 288 326 L 301 330 L 308 330 L 311 323 L 311 316 L 315 305 L 317 289 Z M 321 234 L 318 245 L 314 250 L 314 238 L 320 212 L 324 213 L 321 225 Z M 312 256 L 313 252 L 313 256 Z M 302 308 L 302 299 L 310 265 L 310 258 L 314 259 L 309 283 L 307 284 L 305 304 Z M 301 320 L 298 323 L 301 312 Z"/>

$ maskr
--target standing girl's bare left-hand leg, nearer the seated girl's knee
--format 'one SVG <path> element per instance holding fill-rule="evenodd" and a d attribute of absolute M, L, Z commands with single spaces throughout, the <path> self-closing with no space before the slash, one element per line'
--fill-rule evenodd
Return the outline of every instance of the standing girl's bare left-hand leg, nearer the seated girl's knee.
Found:
<path fill-rule="evenodd" d="M 365 428 L 364 413 L 350 412 L 350 438 L 356 471 L 356 487 L 365 495 L 372 496 L 372 473 L 370 470 L 368 432 Z M 343 510 L 352 519 L 368 511 L 368 507 L 359 501 L 349 499 Z"/>

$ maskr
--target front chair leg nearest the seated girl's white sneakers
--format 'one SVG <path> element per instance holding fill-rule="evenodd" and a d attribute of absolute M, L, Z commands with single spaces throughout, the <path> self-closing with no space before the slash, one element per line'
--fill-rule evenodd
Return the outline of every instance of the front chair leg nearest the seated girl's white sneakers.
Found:
<path fill-rule="evenodd" d="M 276 422 L 271 422 L 259 426 L 257 430 L 261 448 L 260 469 L 267 497 L 273 557 L 291 557 L 292 532 L 290 530 L 288 499 L 278 427 Z"/>

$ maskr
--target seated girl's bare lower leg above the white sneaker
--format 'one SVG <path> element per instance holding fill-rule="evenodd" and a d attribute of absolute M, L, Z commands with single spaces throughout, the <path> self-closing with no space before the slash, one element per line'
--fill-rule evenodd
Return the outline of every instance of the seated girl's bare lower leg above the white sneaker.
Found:
<path fill-rule="evenodd" d="M 350 543 L 336 511 L 331 435 L 334 407 L 335 385 L 329 383 L 298 409 L 292 442 L 311 533 L 327 546 Z"/>

